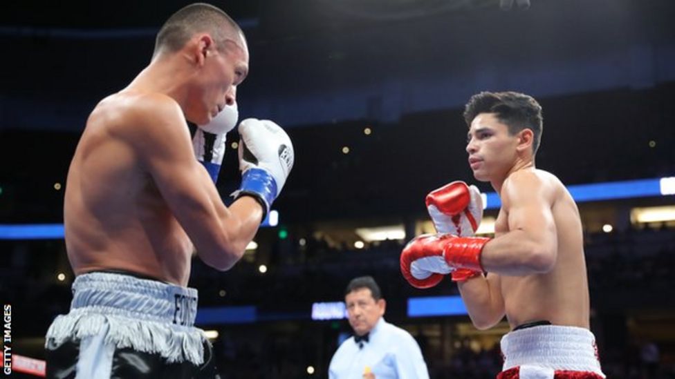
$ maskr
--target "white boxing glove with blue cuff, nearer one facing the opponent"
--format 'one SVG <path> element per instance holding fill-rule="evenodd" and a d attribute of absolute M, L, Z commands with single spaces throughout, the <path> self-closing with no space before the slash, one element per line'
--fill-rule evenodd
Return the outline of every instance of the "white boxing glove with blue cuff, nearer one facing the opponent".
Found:
<path fill-rule="evenodd" d="M 293 143 L 281 126 L 268 119 L 243 120 L 239 136 L 241 186 L 234 196 L 255 197 L 263 206 L 264 220 L 293 168 Z"/>

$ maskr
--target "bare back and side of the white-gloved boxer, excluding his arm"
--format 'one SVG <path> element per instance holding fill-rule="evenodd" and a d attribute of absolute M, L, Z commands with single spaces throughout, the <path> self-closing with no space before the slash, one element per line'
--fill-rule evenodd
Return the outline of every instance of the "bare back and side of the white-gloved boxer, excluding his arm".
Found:
<path fill-rule="evenodd" d="M 185 285 L 192 244 L 129 143 L 147 97 L 112 95 L 87 120 L 66 182 L 68 259 L 76 274 L 118 269 Z"/>

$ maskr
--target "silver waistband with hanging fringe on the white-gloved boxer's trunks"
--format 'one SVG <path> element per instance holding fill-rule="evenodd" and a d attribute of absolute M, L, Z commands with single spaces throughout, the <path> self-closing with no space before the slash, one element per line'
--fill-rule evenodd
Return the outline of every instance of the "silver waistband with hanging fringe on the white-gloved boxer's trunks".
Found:
<path fill-rule="evenodd" d="M 194 327 L 196 289 L 118 273 L 86 273 L 73 282 L 67 315 L 50 325 L 46 349 L 104 331 L 102 342 L 158 353 L 167 362 L 203 363 L 206 336 Z"/>

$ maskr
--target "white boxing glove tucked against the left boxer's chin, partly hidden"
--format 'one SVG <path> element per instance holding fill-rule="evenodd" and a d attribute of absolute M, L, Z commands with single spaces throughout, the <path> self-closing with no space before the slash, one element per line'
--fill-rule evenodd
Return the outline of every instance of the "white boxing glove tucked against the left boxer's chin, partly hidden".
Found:
<path fill-rule="evenodd" d="M 237 126 L 238 118 L 237 103 L 225 106 L 211 122 L 206 125 L 198 125 L 194 137 L 192 137 L 194 155 L 204 165 L 214 183 L 218 180 L 218 173 L 221 171 L 221 164 L 223 164 L 227 133 L 234 129 L 234 126 Z"/>

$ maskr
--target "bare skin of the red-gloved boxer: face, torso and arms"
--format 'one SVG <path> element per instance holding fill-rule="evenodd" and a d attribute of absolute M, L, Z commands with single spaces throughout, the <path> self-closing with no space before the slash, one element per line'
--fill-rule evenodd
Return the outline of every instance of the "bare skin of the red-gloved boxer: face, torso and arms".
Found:
<path fill-rule="evenodd" d="M 555 175 L 537 170 L 531 130 L 508 135 L 494 115 L 472 122 L 467 151 L 474 177 L 501 197 L 495 237 L 481 253 L 488 271 L 459 283 L 479 329 L 506 314 L 511 328 L 537 320 L 589 328 L 582 224 L 571 195 Z"/>

